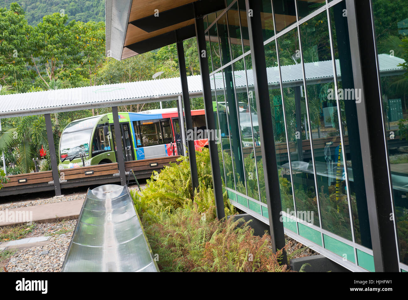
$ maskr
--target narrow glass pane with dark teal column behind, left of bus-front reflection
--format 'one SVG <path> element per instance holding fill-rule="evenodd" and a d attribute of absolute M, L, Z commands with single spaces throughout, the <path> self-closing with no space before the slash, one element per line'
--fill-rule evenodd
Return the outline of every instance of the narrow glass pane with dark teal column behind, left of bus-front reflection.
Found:
<path fill-rule="evenodd" d="M 239 119 L 237 115 L 237 103 L 235 101 L 235 91 L 233 82 L 233 73 L 231 65 L 223 70 L 225 80 L 225 96 L 226 109 L 228 117 L 228 126 L 230 130 L 231 155 L 233 160 L 233 168 L 235 175 L 236 190 L 242 194 L 246 194 L 245 174 L 242 159 L 242 147 L 239 131 Z"/>

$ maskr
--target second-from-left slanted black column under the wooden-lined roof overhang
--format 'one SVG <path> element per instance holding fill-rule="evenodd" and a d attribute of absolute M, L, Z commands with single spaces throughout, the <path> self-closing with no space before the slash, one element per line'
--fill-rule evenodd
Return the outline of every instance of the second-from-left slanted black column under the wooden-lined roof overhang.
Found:
<path fill-rule="evenodd" d="M 207 130 L 215 132 L 213 97 L 211 95 L 210 73 L 208 70 L 207 46 L 204 34 L 204 22 L 202 17 L 195 17 L 195 34 L 197 35 L 198 57 L 200 59 L 200 73 L 203 87 L 204 110 Z M 203 51 L 203 52 L 202 52 Z M 211 136 L 211 135 L 210 135 Z M 215 136 L 215 135 L 214 135 Z M 215 140 L 208 139 L 210 150 L 211 172 L 213 175 L 213 187 L 215 196 L 215 207 L 217 218 L 224 218 L 224 199 L 222 196 L 222 180 L 220 171 L 220 160 Z"/>

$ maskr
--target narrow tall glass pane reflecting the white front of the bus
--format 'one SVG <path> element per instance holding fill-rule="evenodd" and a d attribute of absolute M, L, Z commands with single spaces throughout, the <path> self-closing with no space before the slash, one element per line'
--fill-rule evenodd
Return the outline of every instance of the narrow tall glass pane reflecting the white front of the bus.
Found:
<path fill-rule="evenodd" d="M 257 120 L 254 108 L 249 107 L 248 91 L 246 90 L 246 74 L 244 59 L 234 63 L 235 89 L 239 110 L 239 127 L 244 157 L 244 171 L 248 196 L 259 200 L 258 176 L 255 158 L 252 120 Z"/>

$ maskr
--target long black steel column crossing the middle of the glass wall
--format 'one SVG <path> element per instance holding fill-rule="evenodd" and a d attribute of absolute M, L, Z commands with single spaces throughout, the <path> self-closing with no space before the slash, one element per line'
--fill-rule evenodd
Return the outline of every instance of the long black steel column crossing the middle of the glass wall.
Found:
<path fill-rule="evenodd" d="M 248 17 L 249 42 L 254 77 L 255 100 L 257 104 L 259 137 L 261 139 L 262 165 L 264 167 L 266 203 L 268 204 L 269 227 L 273 251 L 285 247 L 283 222 L 280 221 L 282 205 L 279 191 L 279 176 L 273 139 L 273 123 L 269 103 L 268 77 L 266 75 L 265 50 L 262 37 L 261 2 L 245 0 L 246 11 L 252 9 Z M 283 250 L 282 264 L 286 264 Z"/>

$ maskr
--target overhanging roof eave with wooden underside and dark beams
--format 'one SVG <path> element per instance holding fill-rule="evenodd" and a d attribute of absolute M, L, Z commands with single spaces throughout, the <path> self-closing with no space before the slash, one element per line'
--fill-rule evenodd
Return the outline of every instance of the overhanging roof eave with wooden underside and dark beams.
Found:
<path fill-rule="evenodd" d="M 123 60 L 195 37 L 194 17 L 223 10 L 226 2 L 106 0 L 105 8 L 106 56 Z"/>

